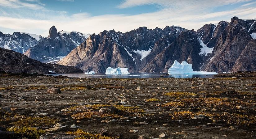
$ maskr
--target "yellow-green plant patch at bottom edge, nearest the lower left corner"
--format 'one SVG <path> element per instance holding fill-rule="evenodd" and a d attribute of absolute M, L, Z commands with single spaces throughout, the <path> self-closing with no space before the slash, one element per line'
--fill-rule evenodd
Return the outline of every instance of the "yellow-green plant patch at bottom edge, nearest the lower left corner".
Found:
<path fill-rule="evenodd" d="M 21 137 L 36 138 L 38 139 L 42 134 L 45 133 L 42 129 L 22 127 L 22 128 L 7 128 L 7 131 L 13 131 L 16 134 L 20 134 Z"/>

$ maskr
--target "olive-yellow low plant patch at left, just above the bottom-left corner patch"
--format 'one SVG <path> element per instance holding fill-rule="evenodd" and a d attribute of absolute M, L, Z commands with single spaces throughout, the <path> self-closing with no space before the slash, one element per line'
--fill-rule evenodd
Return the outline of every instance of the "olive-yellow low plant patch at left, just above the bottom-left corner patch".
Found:
<path fill-rule="evenodd" d="M 38 126 L 51 126 L 58 122 L 56 119 L 52 119 L 49 117 L 28 117 L 16 122 L 13 124 L 16 127 L 38 127 Z"/>

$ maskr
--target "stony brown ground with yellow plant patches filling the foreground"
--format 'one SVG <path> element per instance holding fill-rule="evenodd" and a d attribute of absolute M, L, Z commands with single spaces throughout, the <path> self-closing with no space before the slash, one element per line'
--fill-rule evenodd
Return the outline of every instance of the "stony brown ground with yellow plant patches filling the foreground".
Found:
<path fill-rule="evenodd" d="M 255 138 L 255 79 L 2 74 L 0 138 Z"/>

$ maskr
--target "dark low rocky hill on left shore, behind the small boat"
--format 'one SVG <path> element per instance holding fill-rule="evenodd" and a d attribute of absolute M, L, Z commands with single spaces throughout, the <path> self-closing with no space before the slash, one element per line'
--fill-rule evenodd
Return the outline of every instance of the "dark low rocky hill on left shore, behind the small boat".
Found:
<path fill-rule="evenodd" d="M 47 74 L 48 70 L 55 70 L 56 73 L 83 73 L 81 69 L 73 66 L 57 64 L 45 64 L 27 56 L 0 48 L 0 71 L 10 73 L 32 73 Z"/>

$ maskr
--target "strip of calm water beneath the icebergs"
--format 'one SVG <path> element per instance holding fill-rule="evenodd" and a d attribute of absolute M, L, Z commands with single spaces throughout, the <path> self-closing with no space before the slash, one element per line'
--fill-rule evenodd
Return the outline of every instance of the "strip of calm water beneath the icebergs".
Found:
<path fill-rule="evenodd" d="M 136 73 L 128 75 L 105 75 L 105 74 L 51 74 L 54 76 L 63 75 L 68 77 L 77 77 L 77 78 L 219 78 L 212 75 L 193 75 L 193 74 L 182 74 L 182 75 L 169 75 L 161 77 L 162 74 L 148 74 L 148 73 Z"/>

